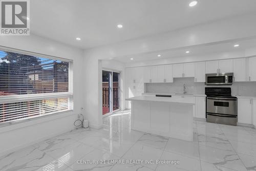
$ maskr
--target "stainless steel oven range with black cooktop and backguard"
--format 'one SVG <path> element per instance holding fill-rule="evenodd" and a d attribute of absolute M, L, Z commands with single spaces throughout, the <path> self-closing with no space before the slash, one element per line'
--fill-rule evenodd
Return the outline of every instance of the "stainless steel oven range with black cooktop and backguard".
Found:
<path fill-rule="evenodd" d="M 206 121 L 237 125 L 237 97 L 231 96 L 231 88 L 206 87 Z"/>

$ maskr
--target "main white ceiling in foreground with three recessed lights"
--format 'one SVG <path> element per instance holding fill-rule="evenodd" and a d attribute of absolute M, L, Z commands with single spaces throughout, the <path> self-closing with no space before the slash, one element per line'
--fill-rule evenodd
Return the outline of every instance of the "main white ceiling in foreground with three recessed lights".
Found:
<path fill-rule="evenodd" d="M 193 8 L 189 2 L 33 0 L 31 33 L 87 49 L 256 12 L 255 0 L 199 0 Z"/>

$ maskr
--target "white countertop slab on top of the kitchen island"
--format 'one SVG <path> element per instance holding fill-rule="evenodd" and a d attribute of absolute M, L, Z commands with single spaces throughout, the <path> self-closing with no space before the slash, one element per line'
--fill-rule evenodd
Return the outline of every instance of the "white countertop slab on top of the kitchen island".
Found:
<path fill-rule="evenodd" d="M 126 98 L 125 100 L 141 100 L 141 101 L 160 101 L 160 102 L 174 102 L 174 103 L 186 103 L 195 105 L 195 98 L 186 97 L 156 97 L 156 96 L 135 96 L 132 98 Z"/>

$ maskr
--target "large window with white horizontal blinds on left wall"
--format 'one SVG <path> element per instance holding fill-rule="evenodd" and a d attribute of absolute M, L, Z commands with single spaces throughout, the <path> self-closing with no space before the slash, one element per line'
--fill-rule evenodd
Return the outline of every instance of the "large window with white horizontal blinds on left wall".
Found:
<path fill-rule="evenodd" d="M 72 61 L 0 50 L 0 123 L 73 109 Z"/>

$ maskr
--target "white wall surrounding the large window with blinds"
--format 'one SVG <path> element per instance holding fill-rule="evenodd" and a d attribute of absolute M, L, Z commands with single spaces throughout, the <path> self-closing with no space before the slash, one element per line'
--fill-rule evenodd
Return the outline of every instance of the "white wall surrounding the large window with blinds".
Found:
<path fill-rule="evenodd" d="M 0 46 L 73 59 L 74 111 L 0 127 L 0 154 L 14 151 L 74 129 L 73 122 L 83 106 L 82 50 L 56 41 L 30 36 L 1 36 Z"/>

